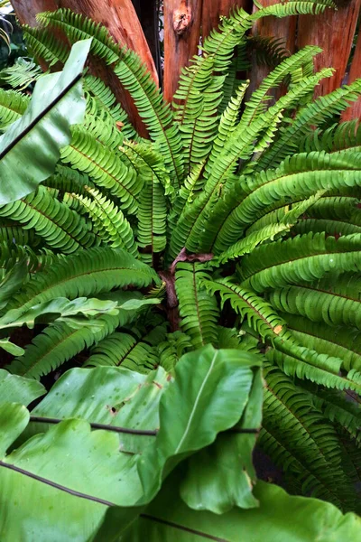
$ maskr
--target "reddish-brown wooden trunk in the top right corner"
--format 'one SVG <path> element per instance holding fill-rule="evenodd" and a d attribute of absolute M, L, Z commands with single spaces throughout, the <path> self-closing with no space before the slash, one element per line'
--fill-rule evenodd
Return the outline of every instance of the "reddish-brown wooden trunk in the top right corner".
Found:
<path fill-rule="evenodd" d="M 337 10 L 327 9 L 324 14 L 317 16 L 299 16 L 298 47 L 319 45 L 323 51 L 315 59 L 316 70 L 324 67 L 336 70 L 332 78 L 321 81 L 316 96 L 338 89 L 343 82 L 356 31 L 361 0 L 337 0 L 336 3 Z"/>

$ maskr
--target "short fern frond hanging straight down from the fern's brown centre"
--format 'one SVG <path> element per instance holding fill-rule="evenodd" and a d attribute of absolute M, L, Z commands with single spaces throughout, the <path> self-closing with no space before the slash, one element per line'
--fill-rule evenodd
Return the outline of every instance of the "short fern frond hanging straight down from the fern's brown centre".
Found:
<path fill-rule="evenodd" d="M 190 336 L 194 348 L 218 341 L 218 306 L 204 289 L 208 273 L 202 264 L 178 264 L 175 288 L 179 299 L 180 328 Z"/>

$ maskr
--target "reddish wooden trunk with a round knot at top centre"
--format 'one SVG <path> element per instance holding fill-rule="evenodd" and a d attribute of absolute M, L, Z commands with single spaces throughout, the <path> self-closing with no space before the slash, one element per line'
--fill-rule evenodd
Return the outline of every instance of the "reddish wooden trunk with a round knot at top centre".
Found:
<path fill-rule="evenodd" d="M 164 2 L 164 98 L 171 98 L 178 86 L 180 70 L 197 53 L 202 0 Z"/>

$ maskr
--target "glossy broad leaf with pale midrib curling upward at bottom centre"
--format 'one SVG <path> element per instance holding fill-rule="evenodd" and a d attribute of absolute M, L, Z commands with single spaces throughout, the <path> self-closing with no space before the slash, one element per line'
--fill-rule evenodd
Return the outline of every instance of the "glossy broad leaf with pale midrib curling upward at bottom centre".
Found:
<path fill-rule="evenodd" d="M 211 345 L 181 358 L 174 383 L 161 399 L 159 434 L 139 463 L 146 499 L 153 498 L 182 459 L 239 422 L 252 386 L 252 367 L 259 364 L 248 352 Z"/>

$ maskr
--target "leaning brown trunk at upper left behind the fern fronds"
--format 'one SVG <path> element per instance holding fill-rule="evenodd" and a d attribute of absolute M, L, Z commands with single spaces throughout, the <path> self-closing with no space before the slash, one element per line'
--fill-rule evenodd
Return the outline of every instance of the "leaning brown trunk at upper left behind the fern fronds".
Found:
<path fill-rule="evenodd" d="M 116 42 L 133 49 L 146 64 L 158 83 L 151 51 L 145 40 L 141 24 L 131 0 L 12 0 L 14 10 L 22 23 L 36 24 L 35 15 L 42 11 L 54 11 L 59 7 L 69 7 L 76 13 L 87 15 L 96 23 L 106 26 Z M 136 112 L 129 94 L 122 89 L 111 70 L 100 62 L 93 62 L 93 72 L 105 80 L 116 94 L 116 98 L 125 107 L 134 126 L 145 134 L 143 124 Z"/>

